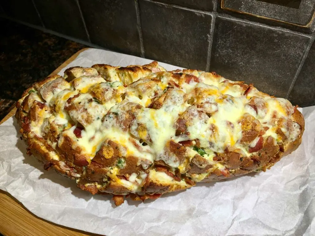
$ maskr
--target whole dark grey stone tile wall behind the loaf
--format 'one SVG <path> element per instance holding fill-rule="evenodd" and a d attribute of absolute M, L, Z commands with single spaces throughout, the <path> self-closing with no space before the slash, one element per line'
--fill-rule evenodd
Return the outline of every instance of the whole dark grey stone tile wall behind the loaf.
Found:
<path fill-rule="evenodd" d="M 0 15 L 315 105 L 315 0 L 10 0 Z"/>

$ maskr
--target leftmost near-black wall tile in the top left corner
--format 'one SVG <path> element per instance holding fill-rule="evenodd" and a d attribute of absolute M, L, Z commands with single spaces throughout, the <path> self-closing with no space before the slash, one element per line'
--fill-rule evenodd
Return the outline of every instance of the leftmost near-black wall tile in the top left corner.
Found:
<path fill-rule="evenodd" d="M 42 26 L 41 20 L 31 0 L 1 1 L 4 13 L 16 20 Z"/>

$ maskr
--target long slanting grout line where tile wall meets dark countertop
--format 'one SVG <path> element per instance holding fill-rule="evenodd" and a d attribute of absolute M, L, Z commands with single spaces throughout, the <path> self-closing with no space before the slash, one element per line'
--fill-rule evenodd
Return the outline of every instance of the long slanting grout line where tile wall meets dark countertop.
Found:
<path fill-rule="evenodd" d="M 65 38 L 65 39 L 68 39 L 68 40 L 71 40 L 71 41 L 74 41 L 74 42 L 77 42 L 77 43 L 84 44 L 84 45 L 89 46 L 91 48 L 98 48 L 98 49 L 104 49 L 104 50 L 107 50 L 107 51 L 112 51 L 112 50 L 110 50 L 108 48 L 103 48 L 103 47 L 101 47 L 99 45 L 96 45 L 96 44 L 84 41 L 82 39 L 74 38 L 74 37 L 71 37 L 71 36 L 68 36 L 68 35 L 64 35 L 64 34 L 58 33 L 56 31 L 49 30 L 47 28 L 43 28 L 42 26 L 33 25 L 33 24 L 30 24 L 30 23 L 27 23 L 27 22 L 24 22 L 24 21 L 16 20 L 16 19 L 8 17 L 8 16 L 3 16 L 2 15 L 0 17 L 3 17 L 3 18 L 8 19 L 8 20 L 12 20 L 12 21 L 17 22 L 17 23 L 22 24 L 22 25 L 29 26 L 31 28 L 43 31 L 45 33 L 53 34 L 53 35 L 56 35 L 58 37 L 62 37 L 62 38 Z"/>

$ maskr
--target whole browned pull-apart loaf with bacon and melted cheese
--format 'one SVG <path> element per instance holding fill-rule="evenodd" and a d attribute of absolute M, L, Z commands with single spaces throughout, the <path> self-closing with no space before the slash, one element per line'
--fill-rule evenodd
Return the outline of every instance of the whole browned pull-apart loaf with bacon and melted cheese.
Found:
<path fill-rule="evenodd" d="M 156 61 L 69 68 L 27 89 L 17 109 L 29 155 L 116 205 L 266 171 L 304 131 L 284 98 Z"/>

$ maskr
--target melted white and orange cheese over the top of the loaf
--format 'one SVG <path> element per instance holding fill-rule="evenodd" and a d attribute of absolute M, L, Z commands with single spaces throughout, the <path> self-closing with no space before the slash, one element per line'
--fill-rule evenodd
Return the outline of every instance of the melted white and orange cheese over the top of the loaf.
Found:
<path fill-rule="evenodd" d="M 181 165 L 175 154 L 167 152 L 167 143 L 170 140 L 178 143 L 180 141 L 198 139 L 200 147 L 206 153 L 203 155 L 203 158 L 210 165 L 213 165 L 213 168 L 223 171 L 226 167 L 213 160 L 216 153 L 223 153 L 227 147 L 234 147 L 241 149 L 243 155 L 250 156 L 251 154 L 247 151 L 248 148 L 254 147 L 258 142 L 258 138 L 256 138 L 250 146 L 240 143 L 242 129 L 239 121 L 245 113 L 254 116 L 263 126 L 269 128 L 263 134 L 263 137 L 271 136 L 281 141 L 276 134 L 277 122 L 272 123 L 272 121 L 279 118 L 289 119 L 293 112 L 291 104 L 283 98 L 271 98 L 255 88 L 252 88 L 247 96 L 243 96 L 243 88 L 239 85 L 231 86 L 229 83 L 232 81 L 212 73 L 202 71 L 189 72 L 188 70 L 187 73 L 197 76 L 199 82 L 191 81 L 186 83 L 179 79 L 178 84 L 180 87 L 175 86 L 173 90 L 170 90 L 170 93 L 168 93 L 169 97 L 163 101 L 162 107 L 151 109 L 148 106 L 157 98 L 157 94 L 161 94 L 163 90 L 167 89 L 169 82 L 176 81 L 173 74 L 170 72 L 150 74 L 147 71 L 132 74 L 128 71 L 119 71 L 117 68 L 119 67 L 112 67 L 106 71 L 106 80 L 112 81 L 112 83 L 106 82 L 101 76 L 82 76 L 72 80 L 72 87 L 69 87 L 67 82 L 61 83 L 60 88 L 53 89 L 53 91 L 45 91 L 45 87 L 43 87 L 41 93 L 45 95 L 46 103 L 54 108 L 54 114 L 41 111 L 41 120 L 38 123 L 31 123 L 31 131 L 41 135 L 47 129 L 49 122 L 55 122 L 55 124 L 65 127 L 57 145 L 63 142 L 64 135 L 68 135 L 73 140 L 72 148 L 80 147 L 88 161 L 91 161 L 102 144 L 107 139 L 110 139 L 119 144 L 119 151 L 124 157 L 128 158 L 130 155 L 137 157 L 137 165 L 142 165 L 144 169 L 153 164 L 154 160 L 163 160 L 173 167 L 173 170 L 178 168 L 181 173 L 186 171 L 189 162 L 198 154 L 193 149 L 193 145 L 196 142 L 194 141 L 191 147 L 186 147 L 186 160 Z M 156 87 L 153 88 L 152 93 L 150 90 L 150 95 L 147 95 L 146 91 L 141 89 L 132 89 L 132 86 L 122 86 L 122 84 L 126 85 L 137 81 L 142 76 L 148 76 L 140 81 L 142 90 L 146 88 L 146 81 L 150 82 L 150 79 L 153 78 L 160 80 L 154 85 Z M 137 84 L 135 85 L 137 86 Z M 112 88 L 117 89 L 118 94 L 116 90 L 113 93 Z M 112 89 L 104 94 L 105 104 L 99 104 L 97 100 L 93 100 L 92 95 L 89 94 L 93 89 L 98 89 L 100 93 L 103 90 L 109 91 Z M 80 94 L 80 96 L 73 99 L 73 101 L 78 108 L 65 111 L 67 100 L 77 94 Z M 263 99 L 267 105 L 267 109 L 258 111 L 258 115 L 255 109 L 248 105 L 249 99 L 254 96 Z M 38 95 L 37 97 L 36 100 L 42 100 Z M 193 98 L 193 102 L 188 103 L 188 98 Z M 124 104 L 127 104 L 127 102 L 140 104 L 142 107 L 138 111 L 134 111 L 133 108 L 130 108 L 130 110 L 124 107 Z M 197 115 L 192 117 L 187 126 L 187 132 L 180 136 L 175 136 L 176 121 L 179 115 L 183 114 L 190 106 L 194 106 L 196 112 L 198 112 L 199 108 L 194 103 L 210 103 L 208 108 L 213 107 L 213 112 L 211 111 L 209 118 L 205 116 L 206 119 L 200 119 L 196 113 Z M 216 107 L 217 110 L 215 109 Z M 127 130 L 124 131 L 118 121 L 126 111 L 131 111 L 133 118 L 130 124 L 127 124 Z M 50 115 L 52 115 L 50 117 L 51 121 L 49 120 L 48 122 L 45 119 L 49 118 Z M 85 122 L 84 119 L 87 115 L 90 115 L 89 122 Z M 104 117 L 105 115 L 106 117 Z M 79 125 L 78 123 L 81 123 L 84 129 L 81 131 L 81 137 L 77 138 L 74 130 Z M 138 130 L 139 124 L 143 125 L 145 129 Z M 281 128 L 281 131 L 290 137 L 290 140 L 294 141 L 299 135 L 300 126 L 295 123 L 293 131 L 289 131 L 284 127 Z M 137 136 L 135 137 L 134 135 L 136 134 Z M 140 139 L 146 140 L 147 145 L 142 145 Z M 53 145 L 55 148 L 56 143 Z M 59 160 L 59 156 L 55 155 L 53 159 Z M 124 180 L 117 178 L 117 173 L 118 169 L 115 167 L 110 170 L 109 177 L 133 193 L 141 191 L 140 186 L 147 177 L 145 173 L 140 175 L 133 173 L 129 176 L 129 180 Z M 187 186 L 185 181 L 175 181 L 173 177 L 170 177 L 165 172 L 150 170 L 148 175 L 150 179 L 158 182 Z M 208 173 L 193 174 L 191 177 L 192 180 L 199 182 L 207 175 Z"/>

